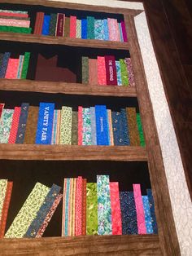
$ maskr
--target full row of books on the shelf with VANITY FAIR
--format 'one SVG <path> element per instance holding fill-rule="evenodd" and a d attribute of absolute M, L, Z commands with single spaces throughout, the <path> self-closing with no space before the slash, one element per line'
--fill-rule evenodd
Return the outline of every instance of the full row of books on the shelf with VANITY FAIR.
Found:
<path fill-rule="evenodd" d="M 0 104 L 0 143 L 145 146 L 140 113 L 136 108 L 111 111 L 95 107 L 40 103 L 39 108 L 21 104 L 15 109 Z"/>

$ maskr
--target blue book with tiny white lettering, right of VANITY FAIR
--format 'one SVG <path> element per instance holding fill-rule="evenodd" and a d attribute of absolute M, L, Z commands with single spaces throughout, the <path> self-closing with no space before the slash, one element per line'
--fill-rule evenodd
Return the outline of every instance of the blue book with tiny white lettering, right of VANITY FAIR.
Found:
<path fill-rule="evenodd" d="M 109 145 L 106 106 L 96 105 L 95 117 L 96 117 L 97 145 Z"/>

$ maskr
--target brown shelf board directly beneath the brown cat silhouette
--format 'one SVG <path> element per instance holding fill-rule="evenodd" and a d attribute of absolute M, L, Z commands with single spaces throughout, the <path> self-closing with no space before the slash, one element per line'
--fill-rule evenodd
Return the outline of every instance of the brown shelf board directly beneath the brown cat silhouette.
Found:
<path fill-rule="evenodd" d="M 68 82 L 44 82 L 22 79 L 0 79 L 0 90 L 22 90 L 68 95 L 100 95 L 116 97 L 136 97 L 135 87 L 92 86 Z"/>

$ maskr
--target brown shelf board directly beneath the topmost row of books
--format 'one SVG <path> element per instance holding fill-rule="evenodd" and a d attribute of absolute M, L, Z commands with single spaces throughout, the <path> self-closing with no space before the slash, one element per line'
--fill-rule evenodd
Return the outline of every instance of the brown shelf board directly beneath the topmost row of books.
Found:
<path fill-rule="evenodd" d="M 92 48 L 106 48 L 116 50 L 129 50 L 128 42 L 111 42 L 96 39 L 61 38 L 51 36 L 34 35 L 32 33 L 0 33 L 1 40 L 13 42 L 36 42 L 43 44 L 55 44 L 64 46 L 80 46 Z"/>

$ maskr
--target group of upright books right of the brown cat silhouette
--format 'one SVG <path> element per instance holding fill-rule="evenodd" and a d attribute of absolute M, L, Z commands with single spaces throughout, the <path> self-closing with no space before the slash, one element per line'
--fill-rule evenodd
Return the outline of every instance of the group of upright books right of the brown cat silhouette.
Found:
<path fill-rule="evenodd" d="M 82 83 L 91 85 L 135 86 L 130 58 L 116 60 L 113 55 L 97 59 L 82 57 Z"/>

